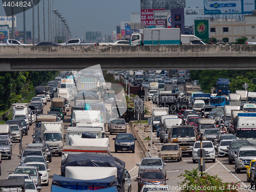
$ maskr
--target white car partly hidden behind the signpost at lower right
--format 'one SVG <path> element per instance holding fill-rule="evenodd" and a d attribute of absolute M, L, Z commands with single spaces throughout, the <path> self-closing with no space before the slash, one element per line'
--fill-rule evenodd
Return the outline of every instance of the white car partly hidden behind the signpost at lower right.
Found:
<path fill-rule="evenodd" d="M 196 141 L 193 146 L 193 163 L 196 163 L 196 160 L 200 160 L 201 157 L 198 157 L 197 152 L 200 150 L 201 141 Z M 214 146 L 211 141 L 204 140 L 203 141 L 203 149 L 206 151 L 206 157 L 203 159 L 205 160 L 212 160 L 212 162 L 215 163 L 215 148 L 217 146 Z"/>

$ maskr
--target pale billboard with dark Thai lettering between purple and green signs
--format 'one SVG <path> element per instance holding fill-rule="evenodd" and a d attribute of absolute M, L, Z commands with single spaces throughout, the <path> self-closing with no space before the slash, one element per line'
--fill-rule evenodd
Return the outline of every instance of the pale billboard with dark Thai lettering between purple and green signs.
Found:
<path fill-rule="evenodd" d="M 210 15 L 204 14 L 203 7 L 184 8 L 185 26 L 194 25 L 194 19 L 206 19 L 206 18 L 210 18 Z"/>

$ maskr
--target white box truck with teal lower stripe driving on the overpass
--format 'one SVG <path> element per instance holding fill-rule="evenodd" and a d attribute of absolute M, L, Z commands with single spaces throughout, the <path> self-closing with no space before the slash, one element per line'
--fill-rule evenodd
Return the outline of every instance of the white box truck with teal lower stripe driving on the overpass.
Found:
<path fill-rule="evenodd" d="M 140 29 L 132 34 L 130 45 L 180 45 L 180 28 L 152 28 Z"/>

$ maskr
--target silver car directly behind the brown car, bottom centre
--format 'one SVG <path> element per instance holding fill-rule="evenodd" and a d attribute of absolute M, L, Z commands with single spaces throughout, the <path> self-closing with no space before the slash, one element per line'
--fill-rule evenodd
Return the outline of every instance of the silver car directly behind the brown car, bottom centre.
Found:
<path fill-rule="evenodd" d="M 160 168 L 164 177 L 166 177 L 167 164 L 163 162 L 161 157 L 144 157 L 140 163 L 137 163 L 136 165 L 139 166 L 138 177 L 141 176 L 141 173 L 145 168 Z"/>

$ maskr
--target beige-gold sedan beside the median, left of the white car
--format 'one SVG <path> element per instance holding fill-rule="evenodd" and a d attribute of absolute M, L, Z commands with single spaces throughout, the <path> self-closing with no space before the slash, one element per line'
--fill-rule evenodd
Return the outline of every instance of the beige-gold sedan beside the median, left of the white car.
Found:
<path fill-rule="evenodd" d="M 178 143 L 164 143 L 161 150 L 159 150 L 159 157 L 163 161 L 177 160 L 182 161 L 182 151 Z"/>

